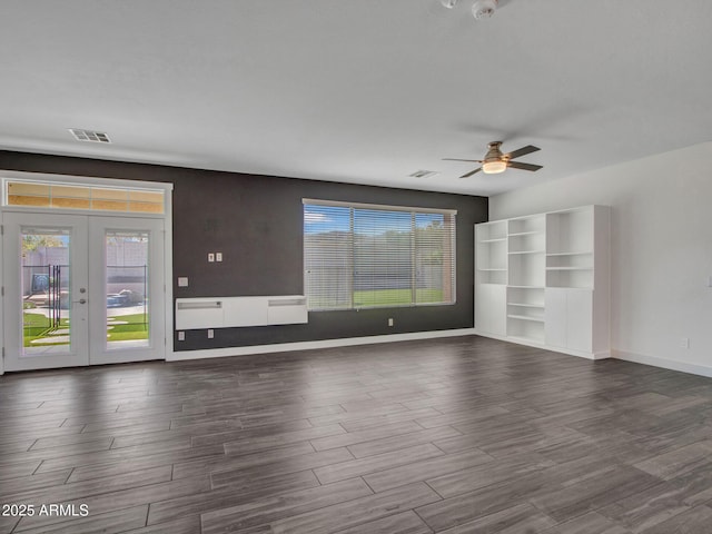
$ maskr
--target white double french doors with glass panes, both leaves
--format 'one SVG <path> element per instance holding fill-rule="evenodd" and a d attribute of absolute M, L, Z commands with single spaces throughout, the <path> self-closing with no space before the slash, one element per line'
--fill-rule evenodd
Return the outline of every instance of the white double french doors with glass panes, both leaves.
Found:
<path fill-rule="evenodd" d="M 6 370 L 165 358 L 164 219 L 3 215 Z"/>

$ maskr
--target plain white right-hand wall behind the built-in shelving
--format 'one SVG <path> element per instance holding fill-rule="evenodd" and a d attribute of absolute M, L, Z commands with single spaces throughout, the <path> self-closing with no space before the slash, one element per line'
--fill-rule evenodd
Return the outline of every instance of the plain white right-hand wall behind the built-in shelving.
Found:
<path fill-rule="evenodd" d="M 712 142 L 494 196 L 490 219 L 589 204 L 612 208 L 614 355 L 712 376 Z"/>

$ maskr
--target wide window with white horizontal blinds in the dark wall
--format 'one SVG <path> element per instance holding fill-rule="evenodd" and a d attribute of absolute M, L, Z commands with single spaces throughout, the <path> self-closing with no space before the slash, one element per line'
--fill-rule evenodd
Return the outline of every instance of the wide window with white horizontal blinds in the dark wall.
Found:
<path fill-rule="evenodd" d="M 455 303 L 454 210 L 304 200 L 310 310 Z"/>

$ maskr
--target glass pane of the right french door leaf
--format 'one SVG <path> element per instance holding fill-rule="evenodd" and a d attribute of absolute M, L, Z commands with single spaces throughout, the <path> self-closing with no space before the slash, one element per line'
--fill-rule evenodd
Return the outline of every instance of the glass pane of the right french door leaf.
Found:
<path fill-rule="evenodd" d="M 106 231 L 108 349 L 150 346 L 148 250 L 148 231 Z"/>

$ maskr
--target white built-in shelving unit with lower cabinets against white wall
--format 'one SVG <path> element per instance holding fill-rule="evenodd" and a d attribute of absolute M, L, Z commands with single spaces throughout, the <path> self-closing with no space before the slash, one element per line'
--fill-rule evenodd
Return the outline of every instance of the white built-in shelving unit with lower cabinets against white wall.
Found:
<path fill-rule="evenodd" d="M 609 211 L 584 206 L 476 225 L 476 332 L 609 356 Z"/>

